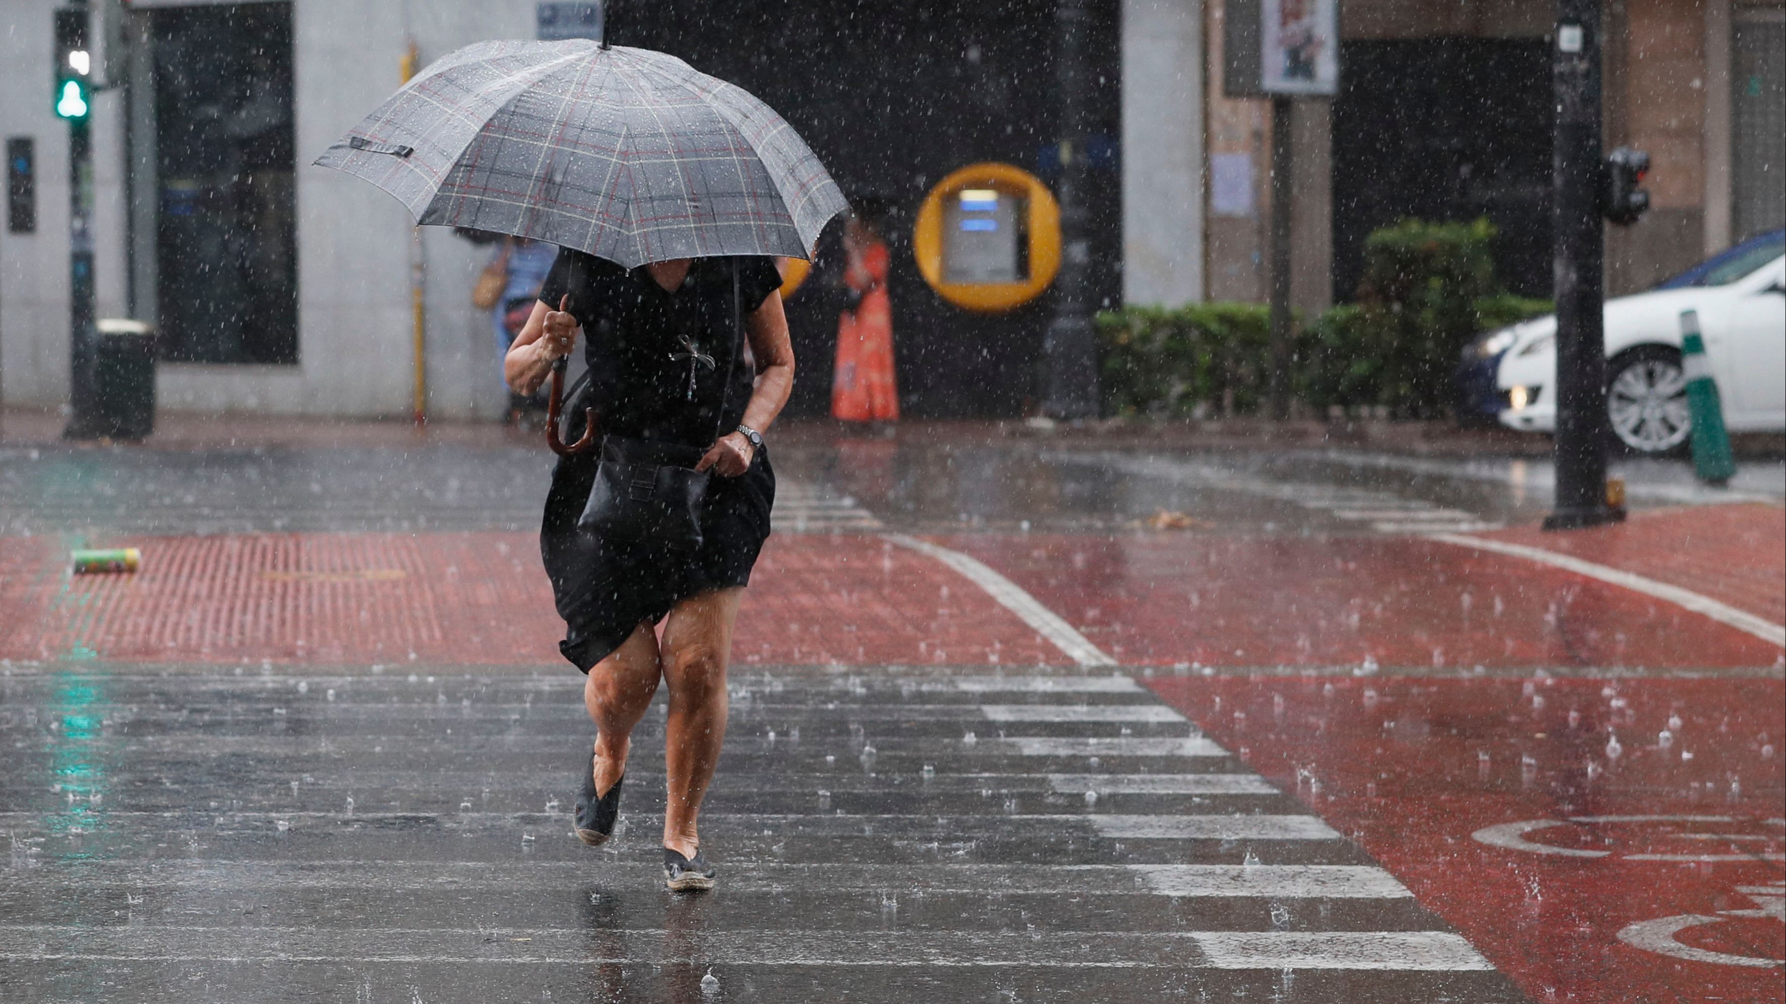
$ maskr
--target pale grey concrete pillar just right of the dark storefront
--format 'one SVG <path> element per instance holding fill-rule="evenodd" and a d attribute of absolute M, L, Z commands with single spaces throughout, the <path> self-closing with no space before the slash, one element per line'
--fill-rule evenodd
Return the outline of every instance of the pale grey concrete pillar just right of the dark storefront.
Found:
<path fill-rule="evenodd" d="M 1123 0 L 1123 300 L 1204 297 L 1202 0 Z"/>

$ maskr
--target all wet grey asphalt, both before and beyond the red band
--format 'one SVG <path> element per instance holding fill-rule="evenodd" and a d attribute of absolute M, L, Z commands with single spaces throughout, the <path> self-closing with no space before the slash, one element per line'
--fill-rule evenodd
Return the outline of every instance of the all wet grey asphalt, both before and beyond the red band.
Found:
<path fill-rule="evenodd" d="M 1531 522 L 1547 464 L 880 439 L 775 448 L 777 529 L 1406 534 Z M 534 447 L 0 450 L 0 534 L 530 531 Z M 1627 463 L 1632 506 L 1786 497 Z M 1356 843 L 1127 675 L 761 668 L 663 890 L 663 704 L 570 834 L 561 666 L 0 666 L 5 1000 L 1525 997 Z"/>

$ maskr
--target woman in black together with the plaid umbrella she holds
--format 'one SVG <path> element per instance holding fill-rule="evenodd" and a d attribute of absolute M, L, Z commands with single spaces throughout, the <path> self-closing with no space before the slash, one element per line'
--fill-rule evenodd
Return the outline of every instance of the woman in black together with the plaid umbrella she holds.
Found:
<path fill-rule="evenodd" d="M 561 459 L 539 550 L 597 729 L 575 757 L 575 829 L 584 843 L 614 832 L 632 729 L 663 682 L 664 881 L 713 888 L 700 802 L 725 740 L 738 602 L 770 532 L 763 432 L 793 386 L 773 259 L 809 259 L 843 193 L 752 95 L 584 39 L 461 48 L 318 163 L 420 223 L 563 248 L 504 377 L 520 395 L 552 381 Z M 589 386 L 564 445 L 555 413 L 579 338 Z"/>

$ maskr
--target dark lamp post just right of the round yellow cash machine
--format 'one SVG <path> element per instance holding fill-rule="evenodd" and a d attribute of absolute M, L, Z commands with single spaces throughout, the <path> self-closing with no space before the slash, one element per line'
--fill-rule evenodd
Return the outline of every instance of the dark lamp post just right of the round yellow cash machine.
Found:
<path fill-rule="evenodd" d="M 1056 82 L 1061 91 L 1061 272 L 1056 275 L 1054 320 L 1043 341 L 1048 386 L 1043 411 L 1050 418 L 1095 418 L 1098 413 L 1098 345 L 1091 322 L 1091 264 L 1086 184 L 1089 127 L 1088 0 L 1059 0 Z"/>

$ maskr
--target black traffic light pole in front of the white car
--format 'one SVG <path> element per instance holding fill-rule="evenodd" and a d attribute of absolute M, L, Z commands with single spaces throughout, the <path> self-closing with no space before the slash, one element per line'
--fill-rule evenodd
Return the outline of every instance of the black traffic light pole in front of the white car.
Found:
<path fill-rule="evenodd" d="M 1556 509 L 1545 529 L 1623 518 L 1606 504 L 1606 232 L 1600 222 L 1600 0 L 1557 0 L 1554 279 L 1557 304 Z"/>

